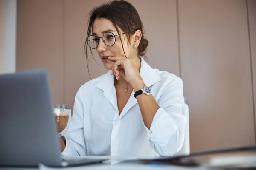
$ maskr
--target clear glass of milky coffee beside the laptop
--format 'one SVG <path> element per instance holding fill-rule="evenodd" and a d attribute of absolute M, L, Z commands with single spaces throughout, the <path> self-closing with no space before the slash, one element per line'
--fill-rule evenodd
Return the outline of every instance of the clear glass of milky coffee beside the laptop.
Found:
<path fill-rule="evenodd" d="M 64 136 L 71 119 L 70 109 L 53 108 L 58 136 Z"/>

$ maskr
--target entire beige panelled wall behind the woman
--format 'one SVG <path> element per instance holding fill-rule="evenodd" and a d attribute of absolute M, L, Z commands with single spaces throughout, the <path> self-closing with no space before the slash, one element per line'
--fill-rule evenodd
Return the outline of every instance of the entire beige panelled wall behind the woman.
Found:
<path fill-rule="evenodd" d="M 46 68 L 54 104 L 73 108 L 76 91 L 90 80 L 84 55 L 87 13 L 102 2 L 106 0 L 17 2 L 17 70 Z M 255 144 L 246 1 L 130 2 L 145 26 L 149 64 L 184 81 L 191 150 Z M 251 49 L 254 55 L 256 49 Z M 90 61 L 92 78 L 106 72 Z"/>

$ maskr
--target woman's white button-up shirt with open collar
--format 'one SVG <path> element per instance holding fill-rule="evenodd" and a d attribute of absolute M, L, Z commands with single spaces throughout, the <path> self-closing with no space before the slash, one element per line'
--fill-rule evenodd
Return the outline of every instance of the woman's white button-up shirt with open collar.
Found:
<path fill-rule="evenodd" d="M 143 59 L 140 75 L 160 106 L 150 129 L 134 91 L 119 115 L 114 76 L 108 71 L 79 88 L 62 155 L 172 156 L 181 149 L 186 126 L 182 80 Z"/>

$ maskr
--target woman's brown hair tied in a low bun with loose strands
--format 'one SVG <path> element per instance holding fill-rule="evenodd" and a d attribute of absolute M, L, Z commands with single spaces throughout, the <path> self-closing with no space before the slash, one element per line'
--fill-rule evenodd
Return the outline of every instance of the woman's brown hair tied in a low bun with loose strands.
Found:
<path fill-rule="evenodd" d="M 131 43 L 130 42 L 131 34 L 134 34 L 135 31 L 137 31 L 139 29 L 142 33 L 142 37 L 140 40 L 140 44 L 137 48 L 138 55 L 145 56 L 145 50 L 148 46 L 148 40 L 144 38 L 143 24 L 140 20 L 140 16 L 139 16 L 137 10 L 134 8 L 134 6 L 131 5 L 131 3 L 128 3 L 127 1 L 124 1 L 124 0 L 120 0 L 120 1 L 115 0 L 115 1 L 111 1 L 108 3 L 102 4 L 99 7 L 93 8 L 93 10 L 90 11 L 87 37 L 89 37 L 92 32 L 93 22 L 96 18 L 106 18 L 106 19 L 110 20 L 113 23 L 113 25 L 115 26 L 118 34 L 120 34 L 118 27 L 122 31 L 127 32 L 128 34 L 126 34 L 126 36 L 128 38 L 129 43 Z M 120 37 L 120 39 L 121 39 L 121 37 Z M 122 43 L 122 40 L 121 40 L 121 43 Z M 88 44 L 87 44 L 87 42 L 85 42 L 84 48 L 85 48 L 85 53 L 86 53 L 87 66 L 88 66 L 87 47 L 88 47 Z M 122 49 L 124 51 L 123 43 L 122 43 Z M 124 53 L 125 53 L 125 51 L 124 51 Z M 126 57 L 126 55 L 125 55 L 125 57 Z"/>

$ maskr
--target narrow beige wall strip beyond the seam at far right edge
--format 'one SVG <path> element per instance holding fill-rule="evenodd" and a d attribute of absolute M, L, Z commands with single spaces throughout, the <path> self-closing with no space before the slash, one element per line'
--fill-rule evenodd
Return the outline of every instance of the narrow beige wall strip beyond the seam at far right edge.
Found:
<path fill-rule="evenodd" d="M 254 94 L 254 125 L 256 137 L 256 0 L 248 0 L 249 33 L 251 46 L 251 60 L 253 72 L 253 94 Z M 256 139 L 255 139 L 256 140 Z"/>

